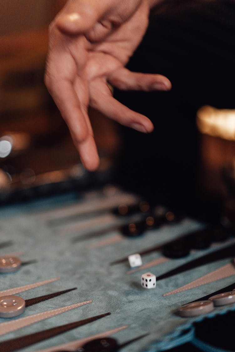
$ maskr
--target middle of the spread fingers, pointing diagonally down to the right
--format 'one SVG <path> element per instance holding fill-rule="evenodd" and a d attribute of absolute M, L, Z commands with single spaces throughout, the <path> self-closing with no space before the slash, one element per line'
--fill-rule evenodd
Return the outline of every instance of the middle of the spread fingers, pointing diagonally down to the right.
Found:
<path fill-rule="evenodd" d="M 150 133 L 153 124 L 146 116 L 134 112 L 113 98 L 106 84 L 103 87 L 90 87 L 90 105 L 107 117 L 137 131 Z"/>

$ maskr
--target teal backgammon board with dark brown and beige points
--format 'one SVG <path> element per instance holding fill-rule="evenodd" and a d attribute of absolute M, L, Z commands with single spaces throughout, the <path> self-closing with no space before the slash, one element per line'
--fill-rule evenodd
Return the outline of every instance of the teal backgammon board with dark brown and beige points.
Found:
<path fill-rule="evenodd" d="M 109 337 L 117 341 L 123 352 L 166 351 L 194 341 L 195 322 L 235 309 L 235 304 L 229 303 L 199 316 L 183 318 L 178 314 L 183 304 L 234 283 L 231 254 L 158 280 L 158 276 L 182 264 L 232 246 L 233 236 L 211 239 L 207 246 L 197 245 L 185 255 L 167 257 L 163 249 L 169 248 L 162 245 L 182 236 L 184 239 L 190 233 L 195 237 L 208 224 L 185 215 L 177 217 L 165 205 L 155 205 L 151 214 L 131 207 L 141 201 L 136 194 L 106 185 L 84 193 L 65 193 L 1 207 L 0 256 L 18 257 L 23 265 L 0 274 L 0 296 L 12 294 L 9 289 L 34 283 L 34 288 L 18 289 L 17 296 L 28 301 L 76 289 L 28 306 L 19 316 L 0 318 L 0 343 L 18 339 L 13 349 L 18 350 L 21 345 L 17 341 L 28 341 L 27 335 L 111 313 L 20 350 L 87 351 L 82 346 L 88 340 Z M 120 215 L 117 209 L 121 204 L 135 210 Z M 156 226 L 148 223 L 143 227 L 146 218 L 151 220 L 153 214 L 161 221 Z M 130 224 L 132 227 L 128 227 Z M 136 224 L 142 226 L 139 231 Z M 8 241 L 11 242 L 5 246 Z M 133 253 L 141 253 L 142 266 L 130 267 L 127 257 Z M 141 275 L 146 272 L 157 277 L 155 288 L 142 287 Z M 62 307 L 67 308 L 63 311 Z M 48 311 L 53 311 L 52 316 L 40 320 Z M 29 316 L 31 321 L 25 323 Z M 0 351 L 5 351 L 1 345 Z"/>

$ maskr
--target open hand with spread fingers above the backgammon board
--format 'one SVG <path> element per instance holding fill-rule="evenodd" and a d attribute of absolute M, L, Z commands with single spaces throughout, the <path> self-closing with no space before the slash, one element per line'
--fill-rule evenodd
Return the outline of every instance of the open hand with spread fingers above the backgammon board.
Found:
<path fill-rule="evenodd" d="M 45 84 L 90 171 L 99 156 L 88 106 L 138 131 L 153 130 L 147 117 L 113 98 L 107 82 L 126 90 L 171 88 L 164 76 L 125 68 L 146 31 L 149 7 L 147 0 L 71 0 L 50 26 Z"/>

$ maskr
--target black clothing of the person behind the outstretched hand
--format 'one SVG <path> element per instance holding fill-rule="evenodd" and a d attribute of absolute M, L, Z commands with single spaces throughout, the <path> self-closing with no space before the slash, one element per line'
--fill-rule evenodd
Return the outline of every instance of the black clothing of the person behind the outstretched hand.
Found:
<path fill-rule="evenodd" d="M 170 92 L 121 92 L 115 97 L 153 121 L 145 135 L 121 127 L 120 182 L 155 203 L 202 205 L 198 185 L 203 105 L 235 108 L 235 1 L 165 1 L 152 10 L 132 71 L 159 73 Z"/>

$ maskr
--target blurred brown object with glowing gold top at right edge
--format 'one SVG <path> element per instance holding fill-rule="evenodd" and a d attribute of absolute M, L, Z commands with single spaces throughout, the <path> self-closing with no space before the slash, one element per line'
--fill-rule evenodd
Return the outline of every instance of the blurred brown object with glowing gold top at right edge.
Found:
<path fill-rule="evenodd" d="M 220 199 L 221 221 L 235 228 L 235 110 L 203 106 L 197 112 L 201 134 L 201 187 Z"/>

